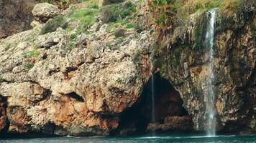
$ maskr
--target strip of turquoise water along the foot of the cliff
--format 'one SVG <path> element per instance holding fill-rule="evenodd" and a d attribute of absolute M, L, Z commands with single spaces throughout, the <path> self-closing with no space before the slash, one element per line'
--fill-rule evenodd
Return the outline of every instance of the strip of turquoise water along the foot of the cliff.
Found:
<path fill-rule="evenodd" d="M 3 139 L 0 142 L 23 143 L 146 143 L 146 142 L 256 142 L 256 135 L 254 136 L 158 136 L 158 137 L 55 137 L 55 138 L 38 138 L 38 139 Z"/>

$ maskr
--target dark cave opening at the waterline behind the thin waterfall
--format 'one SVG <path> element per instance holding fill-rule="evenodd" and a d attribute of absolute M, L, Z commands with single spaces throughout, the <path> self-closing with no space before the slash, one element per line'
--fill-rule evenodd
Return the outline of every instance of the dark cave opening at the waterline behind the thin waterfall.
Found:
<path fill-rule="evenodd" d="M 152 94 L 152 80 L 154 80 L 153 91 L 155 94 Z M 179 92 L 174 89 L 167 79 L 164 79 L 157 73 L 145 84 L 137 104 L 120 115 L 119 128 L 116 129 L 113 134 L 128 135 L 145 134 L 149 132 L 147 128 L 150 123 L 152 123 L 153 95 L 155 98 L 155 122 L 153 124 L 160 124 L 160 126 L 170 125 L 165 124 L 168 117 L 176 117 L 178 119 L 180 117 L 187 117 L 189 120 L 188 124 L 191 125 L 191 118 L 188 117 L 188 112 L 183 108 L 183 100 Z M 186 122 L 186 120 L 181 122 Z M 191 127 L 193 127 L 193 125 L 191 125 Z M 175 129 L 167 130 L 168 132 L 175 131 Z"/>

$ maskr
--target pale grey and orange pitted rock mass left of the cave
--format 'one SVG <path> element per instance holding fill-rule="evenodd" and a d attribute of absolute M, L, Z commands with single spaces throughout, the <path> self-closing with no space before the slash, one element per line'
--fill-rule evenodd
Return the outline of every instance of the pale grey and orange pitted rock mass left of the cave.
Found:
<path fill-rule="evenodd" d="M 76 34 L 76 27 L 41 34 L 42 26 L 0 42 L 0 129 L 108 135 L 150 77 L 149 31 L 115 36 L 98 21 L 88 29 L 93 34 Z"/>

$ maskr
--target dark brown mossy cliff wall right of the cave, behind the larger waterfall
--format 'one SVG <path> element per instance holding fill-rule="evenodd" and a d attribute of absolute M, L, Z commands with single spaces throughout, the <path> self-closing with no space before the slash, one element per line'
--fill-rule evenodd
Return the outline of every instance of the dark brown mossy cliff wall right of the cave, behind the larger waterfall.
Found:
<path fill-rule="evenodd" d="M 180 92 L 183 106 L 191 114 L 194 129 L 207 129 L 205 85 L 210 62 L 206 45 L 206 13 L 193 14 L 181 40 L 175 36 L 157 49 L 157 67 Z M 220 10 L 214 31 L 214 103 L 217 130 L 255 132 L 255 11 L 232 16 Z M 162 57 L 166 57 L 163 59 Z"/>

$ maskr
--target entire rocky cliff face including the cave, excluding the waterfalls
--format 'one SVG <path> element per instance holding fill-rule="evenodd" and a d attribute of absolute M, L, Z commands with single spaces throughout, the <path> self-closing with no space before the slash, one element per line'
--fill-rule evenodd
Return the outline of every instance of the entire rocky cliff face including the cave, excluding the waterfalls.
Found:
<path fill-rule="evenodd" d="M 157 44 L 147 4 L 98 2 L 111 10 L 98 14 L 92 2 L 71 5 L 60 14 L 55 6 L 42 4 L 39 11 L 43 6 L 37 5 L 33 29 L 0 40 L 0 132 L 205 131 L 206 13 L 190 16 L 182 40 L 177 28 L 160 40 L 165 44 Z M 128 11 L 116 16 L 117 7 Z M 255 11 L 232 16 L 217 11 L 219 131 L 256 132 L 255 26 Z M 154 123 L 151 80 L 157 85 Z"/>

